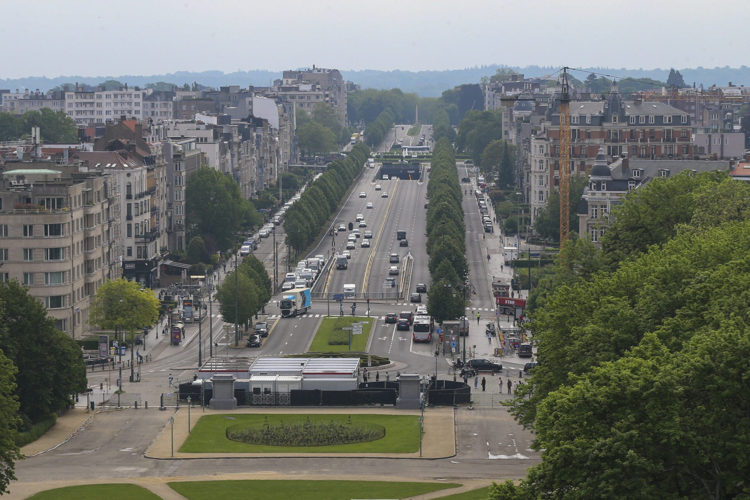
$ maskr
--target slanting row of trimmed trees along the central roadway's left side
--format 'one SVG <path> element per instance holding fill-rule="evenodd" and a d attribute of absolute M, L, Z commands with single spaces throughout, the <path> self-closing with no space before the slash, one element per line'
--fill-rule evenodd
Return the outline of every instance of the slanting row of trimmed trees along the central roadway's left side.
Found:
<path fill-rule="evenodd" d="M 284 214 L 284 232 L 287 245 L 302 252 L 329 223 L 334 212 L 352 182 L 362 171 L 370 153 L 368 146 L 357 143 L 347 158 L 332 161 L 299 200 Z"/>

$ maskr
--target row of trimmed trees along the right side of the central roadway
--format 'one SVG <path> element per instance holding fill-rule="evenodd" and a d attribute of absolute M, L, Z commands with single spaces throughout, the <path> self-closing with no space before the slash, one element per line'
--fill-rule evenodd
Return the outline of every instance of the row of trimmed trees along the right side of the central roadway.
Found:
<path fill-rule="evenodd" d="M 431 166 L 426 228 L 432 285 L 427 307 L 433 318 L 442 322 L 463 316 L 463 286 L 469 274 L 463 196 L 453 147 L 446 137 L 437 141 Z"/>

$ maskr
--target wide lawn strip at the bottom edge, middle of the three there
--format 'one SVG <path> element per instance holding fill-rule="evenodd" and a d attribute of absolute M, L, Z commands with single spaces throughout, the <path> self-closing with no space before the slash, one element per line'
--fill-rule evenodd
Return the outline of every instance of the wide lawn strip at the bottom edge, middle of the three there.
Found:
<path fill-rule="evenodd" d="M 333 480 L 217 480 L 169 483 L 188 500 L 350 500 L 350 498 L 408 498 L 439 489 L 455 488 L 455 483 L 399 483 L 395 481 Z"/>

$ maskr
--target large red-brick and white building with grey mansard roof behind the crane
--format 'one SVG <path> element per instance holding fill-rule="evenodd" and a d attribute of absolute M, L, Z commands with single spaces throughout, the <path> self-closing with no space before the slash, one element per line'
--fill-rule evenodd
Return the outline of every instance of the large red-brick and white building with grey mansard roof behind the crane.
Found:
<path fill-rule="evenodd" d="M 626 101 L 613 83 L 606 100 L 570 104 L 571 175 L 592 167 L 598 150 L 614 156 L 687 159 L 693 155 L 690 116 L 659 101 Z M 559 101 L 550 101 L 539 130 L 530 138 L 529 203 L 532 221 L 559 185 Z"/>

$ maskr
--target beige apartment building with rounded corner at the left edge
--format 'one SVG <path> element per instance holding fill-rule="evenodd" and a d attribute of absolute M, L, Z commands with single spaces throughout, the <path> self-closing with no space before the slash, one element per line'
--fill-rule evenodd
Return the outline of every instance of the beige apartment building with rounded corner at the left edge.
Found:
<path fill-rule="evenodd" d="M 77 162 L 0 161 L 0 281 L 28 286 L 77 336 L 97 288 L 118 277 L 116 179 Z"/>

